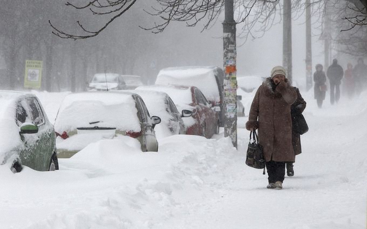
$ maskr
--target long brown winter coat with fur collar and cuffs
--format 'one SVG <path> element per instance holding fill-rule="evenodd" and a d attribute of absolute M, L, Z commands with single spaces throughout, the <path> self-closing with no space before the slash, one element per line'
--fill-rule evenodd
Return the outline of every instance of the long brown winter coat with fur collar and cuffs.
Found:
<path fill-rule="evenodd" d="M 272 85 L 271 78 L 267 78 L 259 86 L 252 100 L 246 129 L 258 128 L 266 161 L 294 162 L 291 104 L 297 99 L 297 93 L 287 79 L 275 90 Z"/>

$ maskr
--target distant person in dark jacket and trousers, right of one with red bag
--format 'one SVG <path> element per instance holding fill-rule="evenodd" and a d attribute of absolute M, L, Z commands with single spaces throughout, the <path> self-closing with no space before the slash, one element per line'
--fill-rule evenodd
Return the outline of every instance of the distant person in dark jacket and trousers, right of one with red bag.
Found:
<path fill-rule="evenodd" d="M 340 83 L 344 75 L 342 66 L 338 64 L 338 60 L 334 59 L 327 69 L 327 78 L 330 81 L 330 103 L 338 102 L 340 98 Z"/>

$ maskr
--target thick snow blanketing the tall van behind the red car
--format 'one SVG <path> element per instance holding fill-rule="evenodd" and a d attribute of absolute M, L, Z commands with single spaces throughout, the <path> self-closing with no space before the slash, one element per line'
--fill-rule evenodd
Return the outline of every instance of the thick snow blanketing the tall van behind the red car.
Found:
<path fill-rule="evenodd" d="M 159 71 L 155 84 L 196 86 L 210 101 L 220 101 L 216 66 L 169 67 Z"/>

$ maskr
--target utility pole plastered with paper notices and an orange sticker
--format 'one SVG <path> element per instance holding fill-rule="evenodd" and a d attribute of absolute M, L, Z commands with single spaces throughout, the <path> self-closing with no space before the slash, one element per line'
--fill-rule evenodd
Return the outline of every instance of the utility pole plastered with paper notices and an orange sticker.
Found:
<path fill-rule="evenodd" d="M 236 22 L 233 11 L 233 0 L 225 0 L 223 22 L 224 136 L 230 137 L 233 146 L 237 148 Z"/>

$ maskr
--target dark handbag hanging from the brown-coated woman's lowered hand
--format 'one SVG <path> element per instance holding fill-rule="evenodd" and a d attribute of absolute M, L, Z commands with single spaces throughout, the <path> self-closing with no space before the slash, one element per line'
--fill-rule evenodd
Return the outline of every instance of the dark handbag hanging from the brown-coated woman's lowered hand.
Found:
<path fill-rule="evenodd" d="M 251 135 L 253 136 L 253 142 L 251 143 Z M 259 144 L 256 131 L 250 132 L 250 142 L 248 143 L 246 165 L 255 169 L 265 169 L 265 159 L 262 147 Z"/>

